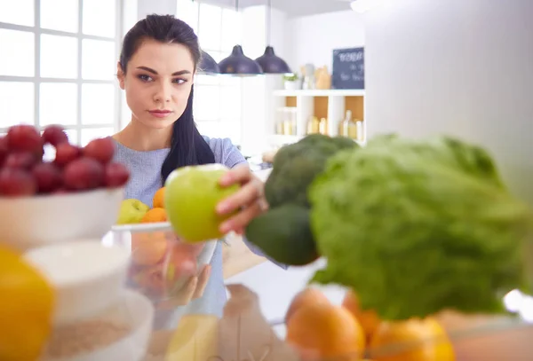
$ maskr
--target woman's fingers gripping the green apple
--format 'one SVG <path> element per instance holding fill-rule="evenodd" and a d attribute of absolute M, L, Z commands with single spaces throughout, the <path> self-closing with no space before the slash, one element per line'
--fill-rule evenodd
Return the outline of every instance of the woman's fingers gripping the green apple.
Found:
<path fill-rule="evenodd" d="M 229 186 L 241 184 L 241 189 L 227 199 L 219 202 L 217 212 L 219 215 L 227 215 L 241 209 L 235 216 L 220 224 L 220 232 L 236 232 L 243 234 L 244 228 L 253 218 L 259 216 L 268 209 L 265 199 L 265 184 L 254 176 L 247 164 L 230 169 L 220 178 L 220 185 Z"/>

